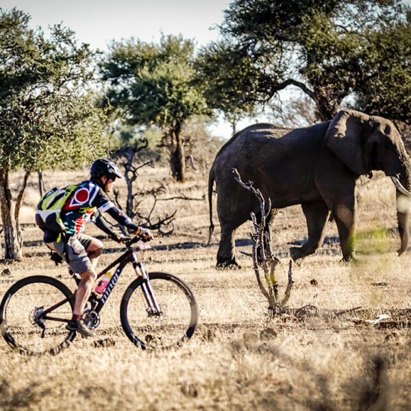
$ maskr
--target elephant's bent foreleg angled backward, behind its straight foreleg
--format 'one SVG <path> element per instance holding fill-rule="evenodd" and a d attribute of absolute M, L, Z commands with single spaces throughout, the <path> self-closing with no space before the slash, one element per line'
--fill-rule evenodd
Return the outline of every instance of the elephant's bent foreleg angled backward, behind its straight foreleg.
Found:
<path fill-rule="evenodd" d="M 323 244 L 325 223 L 329 214 L 324 201 L 303 203 L 301 208 L 307 220 L 308 240 L 302 247 L 290 248 L 290 256 L 294 261 L 309 256 Z"/>

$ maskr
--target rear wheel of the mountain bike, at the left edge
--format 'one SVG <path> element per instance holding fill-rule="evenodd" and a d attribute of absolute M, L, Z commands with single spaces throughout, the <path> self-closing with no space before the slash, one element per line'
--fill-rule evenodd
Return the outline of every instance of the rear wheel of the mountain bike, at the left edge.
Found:
<path fill-rule="evenodd" d="M 51 307 L 67 299 L 51 315 L 64 320 L 71 319 L 73 293 L 58 279 L 44 275 L 26 277 L 13 284 L 0 303 L 0 332 L 8 345 L 19 353 L 34 356 L 44 353 L 53 355 L 67 347 L 75 332 L 66 330 L 66 322 L 43 320 L 45 332 L 34 322 L 35 312 Z"/>

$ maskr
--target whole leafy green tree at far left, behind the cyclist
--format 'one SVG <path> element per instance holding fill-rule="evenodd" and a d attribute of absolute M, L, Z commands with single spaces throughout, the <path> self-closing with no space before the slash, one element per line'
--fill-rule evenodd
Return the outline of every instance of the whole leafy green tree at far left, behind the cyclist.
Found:
<path fill-rule="evenodd" d="M 75 167 L 106 152 L 103 113 L 87 95 L 95 53 L 55 25 L 47 40 L 30 16 L 0 9 L 0 206 L 5 258 L 21 260 L 18 214 L 27 179 L 38 169 Z M 15 204 L 11 171 L 25 171 Z"/>

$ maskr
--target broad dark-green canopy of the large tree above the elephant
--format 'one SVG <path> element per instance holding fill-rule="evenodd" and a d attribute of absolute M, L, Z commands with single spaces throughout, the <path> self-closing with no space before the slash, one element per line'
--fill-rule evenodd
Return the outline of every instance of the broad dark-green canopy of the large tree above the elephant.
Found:
<path fill-rule="evenodd" d="M 403 53 L 398 78 L 408 79 L 410 43 L 394 34 L 408 32 L 409 15 L 401 0 L 234 0 L 220 26 L 223 39 L 201 52 L 201 71 L 213 73 L 216 107 L 223 107 L 227 90 L 245 108 L 296 86 L 314 101 L 318 118 L 327 120 L 349 95 L 364 99 L 368 92 L 384 94 L 384 88 L 401 90 L 398 97 L 407 94 L 408 84 L 392 84 L 395 71 L 386 68 L 387 75 L 380 75 L 379 70 L 384 61 L 391 63 L 395 49 Z M 228 64 L 234 67 L 229 70 Z M 386 114 L 383 105 L 378 110 Z"/>

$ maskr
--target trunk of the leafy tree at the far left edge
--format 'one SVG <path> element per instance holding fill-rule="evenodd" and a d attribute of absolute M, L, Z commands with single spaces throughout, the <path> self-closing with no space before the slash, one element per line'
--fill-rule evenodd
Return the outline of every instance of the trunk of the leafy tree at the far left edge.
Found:
<path fill-rule="evenodd" d="M 0 208 L 5 244 L 4 258 L 5 260 L 21 261 L 23 259 L 23 236 L 18 219 L 13 212 L 14 205 L 10 192 L 9 175 L 8 170 L 5 169 L 0 172 Z M 19 208 L 20 204 L 18 204 Z"/>

